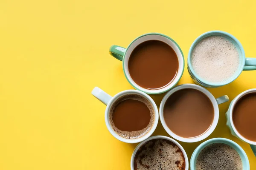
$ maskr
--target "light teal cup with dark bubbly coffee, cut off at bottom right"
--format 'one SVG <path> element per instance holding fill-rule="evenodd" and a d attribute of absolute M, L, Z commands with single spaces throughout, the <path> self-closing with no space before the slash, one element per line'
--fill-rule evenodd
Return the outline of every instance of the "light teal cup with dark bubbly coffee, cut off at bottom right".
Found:
<path fill-rule="evenodd" d="M 190 170 L 250 170 L 244 150 L 230 139 L 213 138 L 192 153 Z"/>

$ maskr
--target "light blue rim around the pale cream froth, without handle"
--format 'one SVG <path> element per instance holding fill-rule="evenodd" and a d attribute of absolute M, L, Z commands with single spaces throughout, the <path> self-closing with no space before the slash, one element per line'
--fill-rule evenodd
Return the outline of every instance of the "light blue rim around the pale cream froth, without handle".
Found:
<path fill-rule="evenodd" d="M 191 55 L 192 55 L 192 51 L 193 49 L 195 48 L 195 45 L 201 41 L 202 39 L 206 38 L 206 37 L 209 37 L 209 36 L 212 36 L 212 35 L 221 35 L 221 36 L 224 36 L 224 37 L 228 37 L 230 38 L 231 40 L 233 40 L 236 44 L 236 46 L 240 49 L 241 51 L 241 62 L 240 62 L 240 65 L 239 65 L 239 70 L 236 72 L 236 74 L 231 78 L 231 79 L 228 79 L 224 82 L 209 82 L 209 81 L 206 81 L 204 79 L 201 79 L 201 77 L 198 76 L 198 74 L 195 73 L 194 69 L 192 68 L 192 64 L 191 64 Z M 204 34 L 201 34 L 197 39 L 195 39 L 195 41 L 192 43 L 191 47 L 189 48 L 189 54 L 188 54 L 188 59 L 187 59 L 187 64 L 188 64 L 188 67 L 190 69 L 190 71 L 192 72 L 192 74 L 200 81 L 200 82 L 203 82 L 204 84 L 207 84 L 207 85 L 210 85 L 210 86 L 213 86 L 213 87 L 219 87 L 219 86 L 223 86 L 223 85 L 227 85 L 229 84 L 230 82 L 233 82 L 237 77 L 239 77 L 239 75 L 241 74 L 241 72 L 243 71 L 244 69 L 244 65 L 245 65 L 245 54 L 244 54 L 244 48 L 243 46 L 241 45 L 241 43 L 239 42 L 239 40 L 236 39 L 236 37 L 234 37 L 233 35 L 227 33 L 227 32 L 224 32 L 224 31 L 208 31 Z"/>

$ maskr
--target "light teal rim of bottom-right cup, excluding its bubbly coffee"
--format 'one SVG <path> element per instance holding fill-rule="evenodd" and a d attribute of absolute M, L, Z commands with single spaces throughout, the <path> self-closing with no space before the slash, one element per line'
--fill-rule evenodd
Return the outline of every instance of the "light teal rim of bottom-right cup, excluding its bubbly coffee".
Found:
<path fill-rule="evenodd" d="M 242 164 L 243 164 L 243 170 L 250 170 L 250 164 L 248 157 L 244 150 L 237 144 L 236 142 L 226 139 L 226 138 L 213 138 L 209 139 L 203 143 L 201 143 L 197 148 L 195 148 L 194 152 L 192 153 L 191 159 L 190 159 L 190 170 L 196 170 L 196 161 L 198 158 L 199 153 L 207 147 L 209 144 L 214 144 L 214 143 L 224 143 L 228 144 L 230 147 L 233 147 L 238 153 L 239 156 L 241 157 Z"/>

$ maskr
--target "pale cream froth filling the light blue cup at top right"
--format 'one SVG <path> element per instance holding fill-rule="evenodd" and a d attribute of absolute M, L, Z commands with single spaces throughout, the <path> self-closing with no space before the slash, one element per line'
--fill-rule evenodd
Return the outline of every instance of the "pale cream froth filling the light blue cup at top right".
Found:
<path fill-rule="evenodd" d="M 198 42 L 192 51 L 192 68 L 202 79 L 224 82 L 239 67 L 239 51 L 227 38 L 209 36 Z"/>

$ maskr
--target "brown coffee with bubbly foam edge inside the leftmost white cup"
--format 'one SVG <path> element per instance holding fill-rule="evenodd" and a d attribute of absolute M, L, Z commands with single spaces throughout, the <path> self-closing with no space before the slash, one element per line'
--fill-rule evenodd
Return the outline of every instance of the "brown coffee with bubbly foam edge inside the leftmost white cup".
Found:
<path fill-rule="evenodd" d="M 111 107 L 110 123 L 119 136 L 126 139 L 140 138 L 154 124 L 154 108 L 143 96 L 122 96 Z"/>

